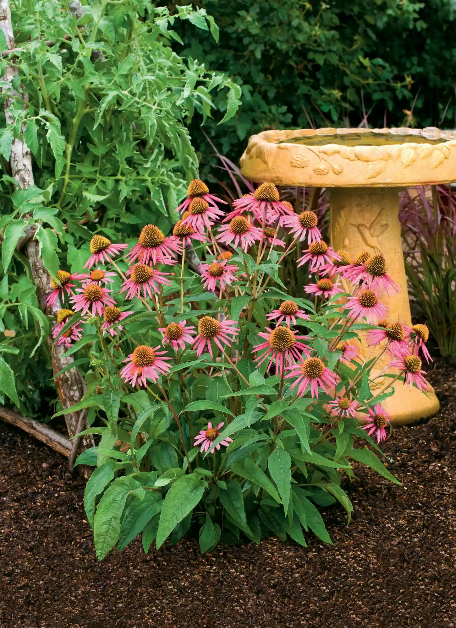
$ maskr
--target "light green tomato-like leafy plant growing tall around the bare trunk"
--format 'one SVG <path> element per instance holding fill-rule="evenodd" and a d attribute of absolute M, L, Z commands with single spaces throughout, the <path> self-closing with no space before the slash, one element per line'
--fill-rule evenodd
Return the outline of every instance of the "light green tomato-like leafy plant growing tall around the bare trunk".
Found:
<path fill-rule="evenodd" d="M 175 51 L 178 21 L 188 32 L 207 30 L 217 39 L 204 9 L 180 6 L 170 15 L 148 1 L 83 4 L 11 3 L 18 48 L 0 58 L 0 75 L 13 59 L 13 87 L 28 94 L 25 105 L 14 100 L 13 125 L 6 125 L 3 108 L 0 113 L 0 331 L 9 334 L 0 347 L 8 374 L 0 379 L 0 393 L 32 416 L 40 411 L 37 389 L 52 371 L 42 344 L 48 320 L 38 309 L 28 261 L 15 248 L 24 227 L 40 225 L 35 237 L 53 279 L 60 267 L 80 268 L 94 231 L 128 237 L 151 218 L 169 230 L 198 171 L 188 122 L 211 115 L 215 93 L 223 109 L 219 120 L 226 121 L 239 97 L 225 75 Z M 0 49 L 6 50 L 1 31 Z M 14 192 L 8 162 L 21 128 L 36 185 Z M 52 388 L 43 392 L 52 397 Z"/>

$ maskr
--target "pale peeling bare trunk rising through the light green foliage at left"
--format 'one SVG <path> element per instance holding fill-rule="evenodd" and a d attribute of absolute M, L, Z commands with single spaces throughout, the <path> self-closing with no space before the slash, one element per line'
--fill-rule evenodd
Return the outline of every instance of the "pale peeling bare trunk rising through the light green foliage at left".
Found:
<path fill-rule="evenodd" d="M 11 23 L 11 11 L 9 9 L 9 0 L 0 0 L 0 30 L 3 31 L 6 36 L 6 42 L 9 50 L 15 48 L 13 24 Z M 14 75 L 17 73 L 16 68 L 8 65 L 4 75 L 4 80 L 11 84 Z M 14 98 L 21 97 L 18 92 L 11 87 L 2 87 L 2 92 L 5 94 L 8 92 L 8 96 L 4 99 L 4 112 L 6 117 L 6 124 L 13 124 L 13 116 L 10 111 L 11 104 Z M 28 95 L 22 95 L 24 103 L 28 101 Z M 11 171 L 18 181 L 18 187 L 27 188 L 30 185 L 34 185 L 33 171 L 31 168 L 31 154 L 28 148 L 24 136 L 21 139 L 14 139 L 13 146 L 11 148 Z M 24 246 L 25 252 L 30 262 L 31 273 L 33 281 L 36 286 L 36 293 L 38 300 L 40 301 L 40 309 L 48 316 L 57 313 L 60 309 L 60 301 L 57 300 L 55 305 L 50 308 L 46 306 L 46 298 L 52 291 L 51 278 L 48 271 L 43 264 L 43 260 L 40 257 L 40 245 L 34 239 L 36 232 L 36 226 L 31 225 L 26 229 L 25 236 L 21 239 L 18 246 Z M 55 327 L 56 322 L 53 323 L 52 328 Z M 52 349 L 52 336 L 48 338 L 48 345 L 52 354 L 53 372 L 57 374 L 62 369 L 73 362 L 73 357 L 63 357 L 65 353 L 65 347 L 59 346 Z M 62 408 L 69 408 L 73 404 L 80 401 L 86 391 L 85 382 L 77 368 L 69 369 L 63 375 L 55 378 L 55 384 L 57 386 L 58 396 L 62 403 Z M 79 413 L 65 414 L 65 421 L 67 423 L 68 434 L 74 436 L 77 432 L 79 423 Z M 89 427 L 87 420 L 83 425 L 83 429 Z M 87 449 L 88 447 L 94 447 L 94 438 L 92 435 L 84 436 L 80 441 L 80 450 Z M 83 467 L 85 477 L 90 475 L 90 467 Z"/>

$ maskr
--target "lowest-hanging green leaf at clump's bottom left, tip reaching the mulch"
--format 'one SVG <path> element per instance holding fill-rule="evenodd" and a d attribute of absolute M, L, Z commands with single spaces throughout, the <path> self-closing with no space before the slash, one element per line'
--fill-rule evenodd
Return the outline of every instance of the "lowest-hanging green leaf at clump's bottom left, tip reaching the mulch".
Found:
<path fill-rule="evenodd" d="M 142 488 L 131 477 L 118 477 L 106 490 L 94 517 L 94 543 L 98 560 L 103 560 L 119 539 L 121 517 L 128 494 Z"/>

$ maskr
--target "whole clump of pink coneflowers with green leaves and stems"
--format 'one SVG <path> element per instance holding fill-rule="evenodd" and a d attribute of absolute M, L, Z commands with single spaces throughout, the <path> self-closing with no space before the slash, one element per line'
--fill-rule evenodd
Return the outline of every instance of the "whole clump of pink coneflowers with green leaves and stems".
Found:
<path fill-rule="evenodd" d="M 340 502 L 350 520 L 353 461 L 397 482 L 384 401 L 394 382 L 426 390 L 427 328 L 388 318 L 398 288 L 380 253 L 333 251 L 273 183 L 229 207 L 194 180 L 178 210 L 169 234 L 95 234 L 87 272 L 62 269 L 50 295 L 54 342 L 87 369 L 87 394 L 57 414 L 87 409 L 98 440 L 77 459 L 94 467 L 97 556 L 138 534 L 146 552 L 185 534 L 202 552 L 268 535 L 305 546 L 309 530 L 331 543 L 320 509 Z M 308 298 L 279 277 L 291 254 Z"/>

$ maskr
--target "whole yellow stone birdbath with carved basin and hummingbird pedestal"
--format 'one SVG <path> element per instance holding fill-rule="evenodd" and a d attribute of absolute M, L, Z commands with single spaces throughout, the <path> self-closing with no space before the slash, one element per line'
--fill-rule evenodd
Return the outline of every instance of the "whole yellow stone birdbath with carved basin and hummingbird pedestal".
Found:
<path fill-rule="evenodd" d="M 352 258 L 366 249 L 383 253 L 388 274 L 401 291 L 393 296 L 383 293 L 381 301 L 388 307 L 389 320 L 411 326 L 398 193 L 413 185 L 456 180 L 456 132 L 435 127 L 263 131 L 249 139 L 241 172 L 257 183 L 328 188 L 331 246 L 335 251 L 345 249 Z M 361 357 L 366 355 L 363 347 Z M 384 354 L 373 375 L 389 361 Z M 377 379 L 376 389 L 387 381 Z M 427 396 L 399 381 L 394 389 L 383 405 L 396 425 L 437 413 L 432 387 Z"/>

